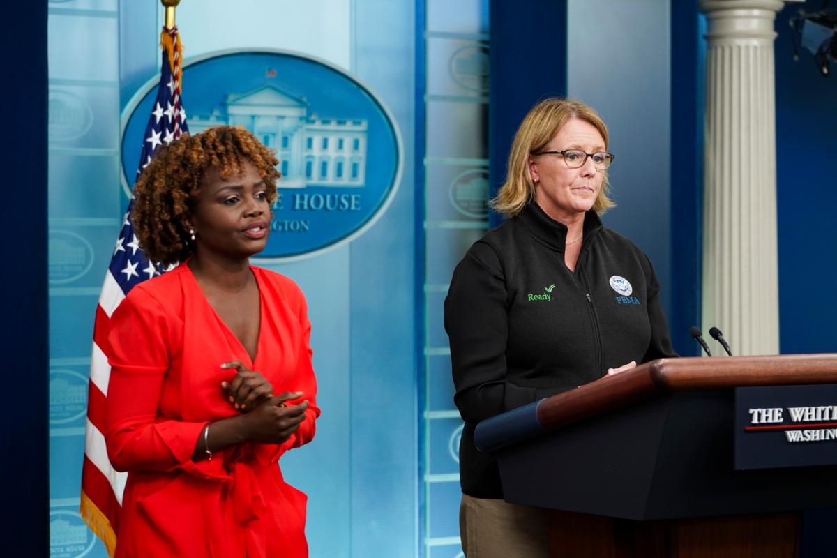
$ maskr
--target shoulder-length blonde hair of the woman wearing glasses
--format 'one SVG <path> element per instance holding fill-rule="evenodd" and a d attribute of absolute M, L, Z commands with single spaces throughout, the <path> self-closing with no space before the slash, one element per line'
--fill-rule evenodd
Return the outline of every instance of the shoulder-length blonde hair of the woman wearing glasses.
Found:
<path fill-rule="evenodd" d="M 533 106 L 526 118 L 523 119 L 515 133 L 509 153 L 508 175 L 506 182 L 497 192 L 497 197 L 489 202 L 496 212 L 511 218 L 523 210 L 535 195 L 535 183 L 529 174 L 529 157 L 541 151 L 552 141 L 567 121 L 577 118 L 593 125 L 604 140 L 604 148 L 608 148 L 608 127 L 588 105 L 575 100 L 550 97 Z M 603 171 L 604 181 L 599 190 L 593 211 L 601 215 L 608 208 L 616 204 L 608 197 L 610 184 L 607 171 Z"/>

